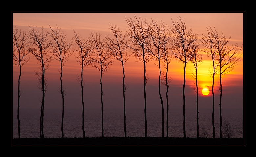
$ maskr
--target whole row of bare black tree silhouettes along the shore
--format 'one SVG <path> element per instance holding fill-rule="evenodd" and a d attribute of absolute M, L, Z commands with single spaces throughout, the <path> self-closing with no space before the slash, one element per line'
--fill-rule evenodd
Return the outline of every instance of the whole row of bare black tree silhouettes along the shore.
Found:
<path fill-rule="evenodd" d="M 150 22 L 141 17 L 125 18 L 128 25 L 128 30 L 123 33 L 122 30 L 116 25 L 110 24 L 111 35 L 102 37 L 100 33 L 90 33 L 88 38 L 82 38 L 74 30 L 73 40 L 67 41 L 64 32 L 61 32 L 56 26 L 49 26 L 50 31 L 45 31 L 43 28 L 37 29 L 37 27 L 31 27 L 28 33 L 18 33 L 15 28 L 13 32 L 13 60 L 15 65 L 20 68 L 20 75 L 18 79 L 18 133 L 20 138 L 20 120 L 19 120 L 19 107 L 20 107 L 20 77 L 21 67 L 29 61 L 29 54 L 38 60 L 40 71 L 36 71 L 38 76 L 38 87 L 42 91 L 41 109 L 40 109 L 40 138 L 44 138 L 43 132 L 43 120 L 44 120 L 44 99 L 45 92 L 47 90 L 47 78 L 45 73 L 49 67 L 52 59 L 60 62 L 60 93 L 62 96 L 62 125 L 61 132 L 63 132 L 63 120 L 64 120 L 64 96 L 66 94 L 65 88 L 63 88 L 62 75 L 64 69 L 64 62 L 68 61 L 68 58 L 75 53 L 77 63 L 81 66 L 81 73 L 77 75 L 78 81 L 81 85 L 81 101 L 82 101 L 82 131 L 83 137 L 85 137 L 84 131 L 84 75 L 83 71 L 86 66 L 93 66 L 100 72 L 100 85 L 101 85 L 101 116 L 102 116 L 102 137 L 104 137 L 103 127 L 103 87 L 102 87 L 102 75 L 113 64 L 112 59 L 116 59 L 121 62 L 122 73 L 123 73 L 123 108 L 124 108 L 124 137 L 126 137 L 126 115 L 125 115 L 125 91 L 128 86 L 125 83 L 125 63 L 130 57 L 135 57 L 139 62 L 142 62 L 144 67 L 144 119 L 145 119 L 145 137 L 147 137 L 147 98 L 146 98 L 146 84 L 148 77 L 146 74 L 146 63 L 152 60 L 156 60 L 159 68 L 159 97 L 160 107 L 162 108 L 162 137 L 164 135 L 164 102 L 160 92 L 161 84 L 166 86 L 166 106 L 167 106 L 167 117 L 166 117 L 166 137 L 168 137 L 168 112 L 170 100 L 173 97 L 168 98 L 168 91 L 172 90 L 169 88 L 171 83 L 170 76 L 168 73 L 170 67 L 171 58 L 174 57 L 179 63 L 184 64 L 184 77 L 183 77 L 183 135 L 186 138 L 186 117 L 185 117 L 185 86 L 186 86 L 186 68 L 189 62 L 194 66 L 195 72 L 193 77 L 196 80 L 196 102 L 197 107 L 197 137 L 199 137 L 199 111 L 198 106 L 200 100 L 198 99 L 198 78 L 197 72 L 199 65 L 203 62 L 202 54 L 205 52 L 208 57 L 212 59 L 212 67 L 210 74 L 212 75 L 212 124 L 213 124 L 213 138 L 215 137 L 214 127 L 214 78 L 217 73 L 220 77 L 220 138 L 222 138 L 222 116 L 221 116 L 221 105 L 222 105 L 222 76 L 229 71 L 233 70 L 234 66 L 240 61 L 241 48 L 237 44 L 229 46 L 228 43 L 230 38 L 226 39 L 223 34 L 218 34 L 216 29 L 211 27 L 206 28 L 208 34 L 202 34 L 198 37 L 192 28 L 187 29 L 185 20 L 179 17 L 177 21 L 171 19 L 172 26 L 167 26 L 161 21 L 159 24 L 157 21 L 151 20 Z M 202 48 L 200 48 L 200 43 Z M 75 45 L 74 45 L 75 43 Z M 73 48 L 74 47 L 74 48 Z M 132 52 L 130 56 L 127 54 L 128 51 Z M 47 105 L 47 104 L 46 104 Z"/>

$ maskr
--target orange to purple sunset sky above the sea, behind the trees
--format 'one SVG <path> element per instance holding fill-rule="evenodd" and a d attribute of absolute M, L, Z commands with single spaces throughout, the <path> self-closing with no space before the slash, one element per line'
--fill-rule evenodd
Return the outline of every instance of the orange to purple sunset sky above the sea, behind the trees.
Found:
<path fill-rule="evenodd" d="M 66 34 L 67 40 L 70 41 L 74 37 L 73 29 L 82 38 L 90 36 L 90 32 L 100 33 L 101 39 L 105 40 L 105 36 L 112 36 L 109 25 L 117 25 L 120 30 L 125 32 L 128 30 L 128 24 L 125 18 L 133 18 L 134 16 L 141 17 L 148 21 L 156 20 L 159 23 L 162 21 L 168 26 L 172 26 L 171 19 L 177 21 L 179 17 L 184 18 L 187 28 L 192 28 L 198 33 L 198 37 L 202 33 L 207 33 L 206 28 L 215 27 L 218 33 L 223 33 L 226 38 L 230 39 L 230 45 L 238 44 L 239 47 L 243 45 L 243 12 L 240 13 L 35 13 L 35 12 L 14 12 L 13 13 L 13 30 L 15 27 L 22 31 L 29 31 L 29 26 L 37 26 L 39 29 L 49 30 L 49 25 L 54 27 L 57 25 Z M 133 18 L 134 19 L 134 18 Z M 73 48 L 75 44 L 73 42 Z M 202 47 L 202 45 L 201 45 Z M 203 47 L 202 47 L 203 48 Z M 81 66 L 75 61 L 75 54 L 69 58 L 63 67 L 63 85 L 66 88 L 67 95 L 65 96 L 65 109 L 82 108 L 81 103 L 81 87 L 76 80 L 77 75 L 81 73 Z M 131 51 L 128 51 L 132 55 Z M 203 52 L 202 52 L 203 53 Z M 242 53 L 242 52 L 241 52 Z M 212 107 L 212 77 L 209 73 L 211 68 L 211 58 L 207 54 L 203 57 L 204 61 L 199 66 L 199 108 Z M 235 66 L 234 70 L 228 74 L 223 75 L 223 108 L 243 108 L 243 55 L 240 63 Z M 114 64 L 111 68 L 103 74 L 103 108 L 123 108 L 122 97 L 122 68 L 120 62 L 113 59 Z M 143 63 L 131 56 L 125 65 L 125 82 L 128 84 L 126 94 L 126 108 L 144 108 L 144 92 L 143 92 Z M 161 102 L 158 94 L 158 76 L 159 69 L 155 65 L 156 61 L 150 61 L 146 64 L 146 73 L 149 80 L 146 85 L 147 93 L 147 108 L 161 109 Z M 13 108 L 17 108 L 18 100 L 18 76 L 19 67 L 13 64 Z M 22 67 L 21 75 L 21 97 L 20 109 L 35 108 L 40 109 L 42 94 L 37 87 L 37 75 L 35 71 L 38 70 L 38 61 L 31 54 L 30 60 Z M 162 66 L 163 68 L 163 66 Z M 52 60 L 50 67 L 46 71 L 46 78 L 48 79 L 48 90 L 45 96 L 45 109 L 62 108 L 61 94 L 58 92 L 60 87 L 60 63 Z M 186 68 L 186 109 L 196 108 L 196 93 L 192 87 L 195 86 L 194 79 L 191 77 L 192 63 L 189 62 Z M 169 106 L 170 108 L 183 107 L 183 64 L 179 63 L 175 58 L 172 58 L 169 65 L 169 75 L 172 78 L 169 87 Z M 85 108 L 100 108 L 101 91 L 100 91 L 100 72 L 92 66 L 85 67 L 85 86 L 84 86 L 84 100 Z M 219 74 L 215 77 L 215 108 L 219 108 L 220 92 L 218 89 Z M 201 91 L 203 88 L 209 88 L 210 94 L 204 96 Z M 161 85 L 161 94 L 166 108 L 165 99 L 166 87 Z"/>

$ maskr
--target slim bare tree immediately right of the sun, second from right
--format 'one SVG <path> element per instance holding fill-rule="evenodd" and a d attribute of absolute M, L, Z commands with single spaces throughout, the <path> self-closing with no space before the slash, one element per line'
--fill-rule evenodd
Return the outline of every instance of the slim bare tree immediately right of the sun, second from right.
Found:
<path fill-rule="evenodd" d="M 216 51 L 216 47 L 214 44 L 214 37 L 213 34 L 211 33 L 211 30 L 207 29 L 207 35 L 205 35 L 204 33 L 202 34 L 201 37 L 201 42 L 204 45 L 204 49 L 203 51 L 208 54 L 209 57 L 211 57 L 212 59 L 212 69 L 209 68 L 209 71 L 211 73 L 212 76 L 212 128 L 213 128 L 213 138 L 215 138 L 215 126 L 214 126 L 214 77 L 218 72 L 218 66 L 219 66 L 219 61 L 217 59 L 218 54 Z"/>

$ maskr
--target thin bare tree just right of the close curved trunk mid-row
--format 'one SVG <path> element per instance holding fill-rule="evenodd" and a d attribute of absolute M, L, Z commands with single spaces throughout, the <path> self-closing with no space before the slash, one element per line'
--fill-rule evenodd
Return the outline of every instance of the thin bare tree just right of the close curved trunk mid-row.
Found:
<path fill-rule="evenodd" d="M 163 34 L 163 46 L 162 46 L 162 51 L 163 51 L 163 63 L 164 67 L 166 69 L 166 73 L 162 72 L 163 77 L 161 79 L 161 83 L 166 86 L 166 106 L 167 106 L 167 111 L 166 111 L 166 137 L 168 137 L 168 119 L 169 119 L 169 102 L 168 102 L 168 91 L 169 91 L 169 84 L 170 84 L 170 77 L 168 76 L 168 68 L 169 64 L 171 62 L 172 56 L 169 54 L 170 50 L 167 44 L 169 43 L 170 36 L 168 34 Z M 166 42 L 166 43 L 165 43 Z"/>

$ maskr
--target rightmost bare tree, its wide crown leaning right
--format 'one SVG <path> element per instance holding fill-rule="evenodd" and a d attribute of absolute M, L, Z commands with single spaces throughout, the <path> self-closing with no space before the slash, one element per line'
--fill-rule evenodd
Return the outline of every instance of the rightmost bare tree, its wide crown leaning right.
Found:
<path fill-rule="evenodd" d="M 210 28 L 211 29 L 211 28 Z M 214 46 L 218 54 L 218 62 L 219 62 L 219 69 L 220 69 L 220 138 L 222 138 L 222 117 L 221 117 L 221 100 L 222 100 L 222 75 L 230 72 L 233 70 L 234 66 L 236 66 L 240 61 L 241 54 L 240 51 L 242 51 L 241 48 L 238 47 L 238 44 L 229 46 L 228 43 L 230 42 L 231 36 L 226 39 L 225 35 L 222 33 L 219 35 L 216 31 L 215 27 L 214 29 L 211 29 L 211 33 L 214 39 Z"/>

